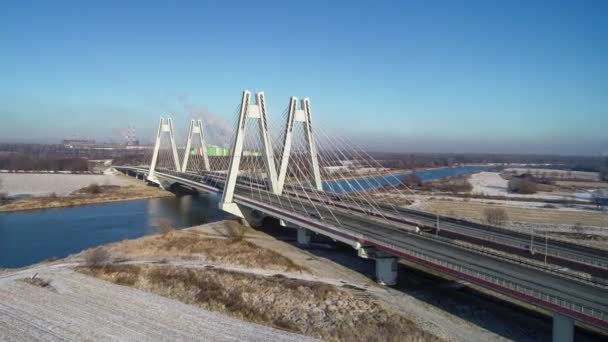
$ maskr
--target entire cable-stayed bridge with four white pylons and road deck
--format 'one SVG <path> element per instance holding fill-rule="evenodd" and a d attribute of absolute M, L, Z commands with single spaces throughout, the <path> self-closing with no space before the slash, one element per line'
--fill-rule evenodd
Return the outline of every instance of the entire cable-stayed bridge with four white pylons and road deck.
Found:
<path fill-rule="evenodd" d="M 149 164 L 115 169 L 221 195 L 220 209 L 250 222 L 279 219 L 302 245 L 311 233 L 349 244 L 376 261 L 381 283 L 394 284 L 405 259 L 535 305 L 553 314 L 556 341 L 572 340 L 574 321 L 608 331 L 607 251 L 403 208 L 413 191 L 316 125 L 309 99 L 292 97 L 272 122 L 264 94 L 252 97 L 243 92 L 231 140 L 216 142 L 224 146 L 211 146 L 200 120 L 178 146 L 172 119 L 161 118 Z"/>

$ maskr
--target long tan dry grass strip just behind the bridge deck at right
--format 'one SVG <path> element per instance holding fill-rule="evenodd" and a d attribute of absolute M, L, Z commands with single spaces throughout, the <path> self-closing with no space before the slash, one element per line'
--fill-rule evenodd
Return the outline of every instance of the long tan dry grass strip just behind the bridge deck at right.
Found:
<path fill-rule="evenodd" d="M 456 213 L 461 218 L 473 219 L 484 222 L 484 210 L 496 207 L 496 204 L 465 202 L 465 201 L 446 201 L 429 200 L 425 210 L 447 215 Z M 508 217 L 513 222 L 544 223 L 544 224 L 569 224 L 581 223 L 585 226 L 608 227 L 608 215 L 601 212 L 555 210 L 538 208 L 518 208 L 501 206 L 507 212 Z"/>

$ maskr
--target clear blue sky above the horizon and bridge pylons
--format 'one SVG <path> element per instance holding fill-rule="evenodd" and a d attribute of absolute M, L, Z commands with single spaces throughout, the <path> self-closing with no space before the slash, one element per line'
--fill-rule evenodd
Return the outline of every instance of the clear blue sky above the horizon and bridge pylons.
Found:
<path fill-rule="evenodd" d="M 309 96 L 376 150 L 603 153 L 606 18 L 607 1 L 3 1 L 0 141 L 147 138 L 205 107 L 232 122 L 250 89 L 275 116 Z"/>

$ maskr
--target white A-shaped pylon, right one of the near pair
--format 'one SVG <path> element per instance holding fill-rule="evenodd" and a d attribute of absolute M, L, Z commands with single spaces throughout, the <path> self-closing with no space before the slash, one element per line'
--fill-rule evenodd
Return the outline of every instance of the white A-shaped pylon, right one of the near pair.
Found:
<path fill-rule="evenodd" d="M 310 112 L 310 100 L 302 99 L 298 108 L 298 99 L 291 97 L 289 99 L 289 113 L 287 116 L 287 126 L 285 127 L 285 141 L 283 142 L 283 153 L 281 154 L 281 164 L 279 166 L 279 177 L 277 179 L 276 194 L 283 193 L 285 185 L 285 177 L 287 176 L 287 165 L 289 164 L 289 155 L 291 153 L 291 143 L 293 140 L 294 125 L 300 122 L 304 125 L 304 135 L 308 155 L 310 157 L 310 174 L 311 183 L 318 191 L 323 191 L 323 183 L 321 182 L 321 172 L 319 170 L 319 160 L 317 158 L 317 147 L 315 145 L 314 136 L 312 134 L 312 115 Z"/>

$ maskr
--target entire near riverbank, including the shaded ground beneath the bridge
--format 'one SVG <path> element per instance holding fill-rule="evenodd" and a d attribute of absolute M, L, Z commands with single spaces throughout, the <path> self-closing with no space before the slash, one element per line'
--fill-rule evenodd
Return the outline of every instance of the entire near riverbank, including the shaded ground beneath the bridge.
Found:
<path fill-rule="evenodd" d="M 378 286 L 370 279 L 374 263 L 354 250 L 322 244 L 305 250 L 295 246 L 295 230 L 271 233 L 235 223 L 116 242 L 103 247 L 106 259 L 97 264 L 85 251 L 0 272 L 0 309 L 10 313 L 0 340 L 18 334 L 20 322 L 44 327 L 36 330 L 39 339 L 51 333 L 82 339 L 83 331 L 97 339 L 180 339 L 170 326 L 197 340 L 191 321 L 203 322 L 197 325 L 205 330 L 198 336 L 203 340 L 230 337 L 208 335 L 217 330 L 206 322 L 226 326 L 230 334 L 249 331 L 247 340 L 277 331 L 284 335 L 272 340 L 305 340 L 303 335 L 328 341 L 550 339 L 550 319 L 484 300 L 449 280 L 399 265 L 399 284 Z M 27 279 L 34 276 L 40 280 Z M 113 329 L 98 323 L 110 319 L 131 323 Z"/>

